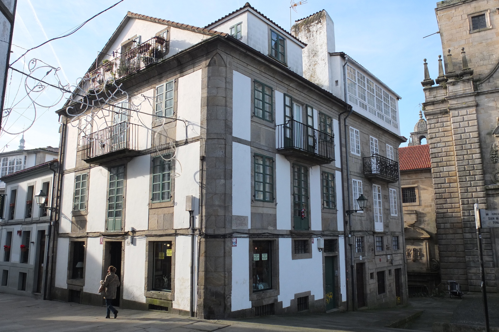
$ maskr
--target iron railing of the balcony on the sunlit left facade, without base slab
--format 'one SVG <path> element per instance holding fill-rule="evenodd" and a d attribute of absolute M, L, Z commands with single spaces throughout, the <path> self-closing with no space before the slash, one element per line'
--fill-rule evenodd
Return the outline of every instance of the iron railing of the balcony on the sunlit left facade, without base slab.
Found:
<path fill-rule="evenodd" d="M 82 159 L 88 160 L 119 150 L 139 150 L 139 126 L 122 122 L 82 138 Z"/>

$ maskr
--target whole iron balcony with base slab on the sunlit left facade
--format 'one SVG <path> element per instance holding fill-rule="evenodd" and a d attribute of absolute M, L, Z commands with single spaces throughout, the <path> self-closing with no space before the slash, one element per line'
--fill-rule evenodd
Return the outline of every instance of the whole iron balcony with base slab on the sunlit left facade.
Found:
<path fill-rule="evenodd" d="M 82 159 L 91 164 L 135 157 L 139 151 L 139 126 L 122 122 L 82 138 Z"/>

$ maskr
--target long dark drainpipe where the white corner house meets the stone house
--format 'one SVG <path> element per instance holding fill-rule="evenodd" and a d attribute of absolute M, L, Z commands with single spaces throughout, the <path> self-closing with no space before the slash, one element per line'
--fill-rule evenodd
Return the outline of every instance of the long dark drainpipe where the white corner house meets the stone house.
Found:
<path fill-rule="evenodd" d="M 348 63 L 348 55 L 345 54 L 345 63 L 343 64 L 343 89 L 344 89 L 344 96 L 345 96 L 345 103 L 348 103 L 348 92 L 347 92 L 347 85 L 346 85 L 346 65 Z M 346 182 L 347 182 L 347 202 L 348 202 L 348 210 L 351 210 L 351 205 L 350 205 L 350 167 L 348 163 L 348 151 L 349 151 L 349 146 L 348 146 L 348 126 L 346 124 L 346 119 L 352 114 L 353 109 L 351 105 L 348 105 L 349 107 L 349 113 L 343 118 L 343 124 L 344 124 L 344 130 L 345 130 L 345 164 L 346 164 Z M 338 117 L 339 120 L 339 117 Z M 343 204 L 344 206 L 345 204 Z M 346 214 L 343 211 L 344 214 Z M 352 217 L 351 215 L 348 215 L 348 238 L 350 239 L 350 243 L 347 242 L 347 238 L 345 237 L 345 242 L 348 243 L 348 246 L 350 247 L 350 280 L 351 280 L 351 285 L 352 285 L 352 297 L 351 297 L 351 302 L 352 302 L 352 311 L 355 311 L 355 272 L 354 272 L 354 265 L 353 265 L 353 245 L 352 245 Z M 345 260 L 347 261 L 346 254 L 345 254 Z M 348 292 L 347 292 L 348 294 Z"/>

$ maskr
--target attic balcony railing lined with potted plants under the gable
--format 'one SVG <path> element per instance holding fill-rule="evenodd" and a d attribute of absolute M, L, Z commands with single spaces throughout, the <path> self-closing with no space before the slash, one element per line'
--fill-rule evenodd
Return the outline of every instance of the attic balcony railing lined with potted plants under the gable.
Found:
<path fill-rule="evenodd" d="M 88 72 L 83 79 L 82 90 L 88 94 L 100 92 L 107 82 L 113 82 L 148 64 L 161 61 L 166 57 L 167 52 L 168 41 L 162 37 L 153 37 Z"/>

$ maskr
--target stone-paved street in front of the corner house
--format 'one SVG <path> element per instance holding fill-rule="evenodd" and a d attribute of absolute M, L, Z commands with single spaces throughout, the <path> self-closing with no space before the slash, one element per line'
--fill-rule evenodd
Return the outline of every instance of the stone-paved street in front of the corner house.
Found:
<path fill-rule="evenodd" d="M 426 303 L 425 303 L 426 301 Z M 439 302 L 441 301 L 441 302 Z M 443 304 L 456 306 L 462 300 L 449 302 L 435 299 L 416 299 L 404 308 L 366 310 L 346 313 L 309 314 L 296 316 L 268 316 L 245 320 L 207 321 L 171 315 L 162 312 L 118 309 L 118 318 L 105 319 L 106 308 L 43 301 L 0 293 L 0 332 L 408 332 L 385 328 L 411 315 L 420 314 L 421 308 L 440 308 Z M 428 304 L 430 303 L 430 304 Z M 432 307 L 433 306 L 433 307 Z M 452 309 L 452 308 L 451 308 Z M 447 311 L 431 310 L 433 316 L 421 316 L 421 330 L 431 331 L 431 320 L 448 322 Z M 442 317 L 437 314 L 441 312 Z M 451 310 L 452 312 L 452 310 Z M 437 316 L 435 316 L 437 315 Z M 419 322 L 418 319 L 416 322 Z M 426 322 L 426 323 L 425 323 Z M 428 328 L 430 327 L 430 328 Z M 413 331 L 414 326 L 413 326 Z"/>

